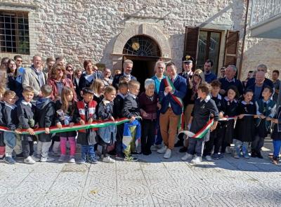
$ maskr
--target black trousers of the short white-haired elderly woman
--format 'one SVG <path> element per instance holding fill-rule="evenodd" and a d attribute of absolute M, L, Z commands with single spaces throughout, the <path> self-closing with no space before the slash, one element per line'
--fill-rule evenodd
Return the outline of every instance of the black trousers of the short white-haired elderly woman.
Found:
<path fill-rule="evenodd" d="M 155 138 L 155 125 L 156 120 L 143 119 L 141 123 L 141 152 L 151 152 L 150 147 Z"/>

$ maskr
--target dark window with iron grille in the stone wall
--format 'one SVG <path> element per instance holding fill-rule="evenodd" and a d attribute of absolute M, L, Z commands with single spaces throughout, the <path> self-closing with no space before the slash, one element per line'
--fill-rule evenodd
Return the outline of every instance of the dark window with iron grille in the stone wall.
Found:
<path fill-rule="evenodd" d="M 2 53 L 30 54 L 27 12 L 0 11 L 0 46 Z"/>

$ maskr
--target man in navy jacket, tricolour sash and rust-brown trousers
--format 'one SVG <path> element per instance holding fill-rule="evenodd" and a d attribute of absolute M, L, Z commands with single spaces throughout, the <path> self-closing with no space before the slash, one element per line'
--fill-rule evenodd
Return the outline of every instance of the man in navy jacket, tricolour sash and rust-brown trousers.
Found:
<path fill-rule="evenodd" d="M 176 65 L 170 62 L 166 65 L 166 78 L 162 79 L 159 88 L 160 131 L 164 146 L 158 153 L 164 153 L 164 158 L 171 157 L 174 148 L 178 123 L 183 113 L 183 98 L 186 93 L 186 79 L 176 74 Z"/>

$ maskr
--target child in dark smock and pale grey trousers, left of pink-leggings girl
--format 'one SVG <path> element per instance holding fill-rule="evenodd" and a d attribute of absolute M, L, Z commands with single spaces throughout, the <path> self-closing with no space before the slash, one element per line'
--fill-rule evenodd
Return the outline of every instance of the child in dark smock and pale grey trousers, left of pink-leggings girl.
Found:
<path fill-rule="evenodd" d="M 36 123 L 39 128 L 45 128 L 45 133 L 38 135 L 37 156 L 41 162 L 54 161 L 48 156 L 48 149 L 51 147 L 50 126 L 53 126 L 55 117 L 55 103 L 51 100 L 52 88 L 49 85 L 41 86 L 42 97 L 36 102 Z"/>

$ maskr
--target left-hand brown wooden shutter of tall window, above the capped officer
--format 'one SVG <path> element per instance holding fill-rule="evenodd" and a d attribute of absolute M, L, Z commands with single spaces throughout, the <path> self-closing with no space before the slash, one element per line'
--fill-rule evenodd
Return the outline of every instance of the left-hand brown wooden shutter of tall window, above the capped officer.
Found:
<path fill-rule="evenodd" d="M 199 27 L 185 27 L 185 44 L 183 57 L 185 55 L 191 55 L 192 58 L 194 58 L 195 61 L 193 62 L 193 70 L 196 68 L 198 38 Z"/>

